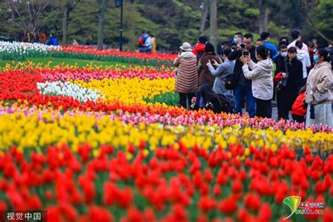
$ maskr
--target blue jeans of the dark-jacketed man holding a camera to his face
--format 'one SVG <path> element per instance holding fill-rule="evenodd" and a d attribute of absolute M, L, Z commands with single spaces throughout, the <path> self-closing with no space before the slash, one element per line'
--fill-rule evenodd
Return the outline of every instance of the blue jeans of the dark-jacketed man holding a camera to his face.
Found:
<path fill-rule="evenodd" d="M 245 104 L 245 98 L 247 100 L 247 112 L 249 117 L 253 118 L 256 115 L 256 99 L 252 95 L 251 86 L 238 85 L 234 89 L 235 96 L 235 113 L 242 115 L 242 108 Z"/>

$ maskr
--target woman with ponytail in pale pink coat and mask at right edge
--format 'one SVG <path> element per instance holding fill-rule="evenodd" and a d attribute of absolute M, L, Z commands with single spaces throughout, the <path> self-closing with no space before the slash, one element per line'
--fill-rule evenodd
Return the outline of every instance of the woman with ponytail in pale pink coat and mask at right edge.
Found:
<path fill-rule="evenodd" d="M 320 48 L 313 61 L 315 67 L 308 74 L 306 81 L 306 127 L 308 126 L 329 126 L 332 127 L 332 66 L 329 63 L 328 52 Z"/>

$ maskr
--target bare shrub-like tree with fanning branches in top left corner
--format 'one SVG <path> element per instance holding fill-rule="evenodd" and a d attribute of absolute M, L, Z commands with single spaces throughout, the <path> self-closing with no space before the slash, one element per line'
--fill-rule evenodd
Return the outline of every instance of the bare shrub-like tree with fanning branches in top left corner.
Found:
<path fill-rule="evenodd" d="M 36 37 L 41 25 L 48 20 L 47 16 L 43 21 L 40 18 L 51 0 L 6 0 L 6 3 L 11 13 L 9 22 L 21 29 L 25 36 Z"/>

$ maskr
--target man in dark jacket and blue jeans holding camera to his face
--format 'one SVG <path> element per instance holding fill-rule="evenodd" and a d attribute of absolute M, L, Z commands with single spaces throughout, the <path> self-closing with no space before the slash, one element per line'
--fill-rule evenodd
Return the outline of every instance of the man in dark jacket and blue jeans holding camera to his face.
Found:
<path fill-rule="evenodd" d="M 235 112 L 242 115 L 242 108 L 244 107 L 246 98 L 249 117 L 254 117 L 256 114 L 256 100 L 252 95 L 252 80 L 244 77 L 242 70 L 243 63 L 240 60 L 243 51 L 249 51 L 252 61 L 254 61 L 254 63 L 257 62 L 256 48 L 253 46 L 253 35 L 250 33 L 244 34 L 243 43 L 244 44 L 238 44 L 237 49 L 228 56 L 228 60 L 236 60 L 235 68 L 233 70 L 233 83 L 235 84 Z"/>

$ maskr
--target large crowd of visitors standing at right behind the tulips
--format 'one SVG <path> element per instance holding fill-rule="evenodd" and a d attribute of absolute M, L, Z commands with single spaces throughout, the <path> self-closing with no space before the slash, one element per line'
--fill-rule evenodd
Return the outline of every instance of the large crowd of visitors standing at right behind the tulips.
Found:
<path fill-rule="evenodd" d="M 282 37 L 275 46 L 270 33 L 235 33 L 223 41 L 220 53 L 207 37 L 192 48 L 184 42 L 174 60 L 176 93 L 188 109 L 207 108 L 249 117 L 272 117 L 276 100 L 278 119 L 311 125 L 332 125 L 333 74 L 329 52 L 317 39 L 305 44 L 301 32 Z M 332 52 L 331 52 L 332 53 Z M 290 113 L 291 112 L 291 113 Z"/>

